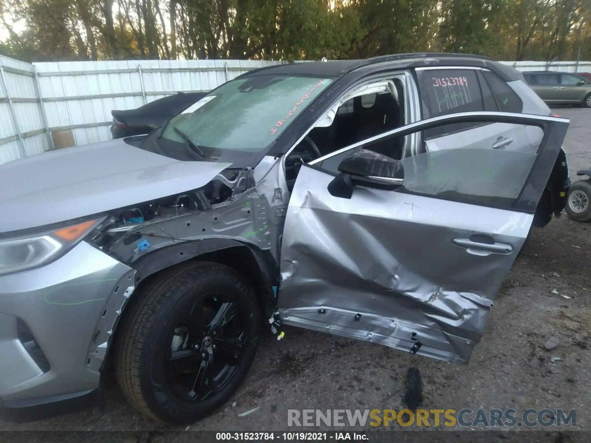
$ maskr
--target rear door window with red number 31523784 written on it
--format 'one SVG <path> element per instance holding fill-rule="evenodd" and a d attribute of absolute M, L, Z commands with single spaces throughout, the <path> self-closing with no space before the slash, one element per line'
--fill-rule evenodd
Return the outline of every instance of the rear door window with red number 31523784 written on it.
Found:
<path fill-rule="evenodd" d="M 423 118 L 458 112 L 485 110 L 476 70 L 436 69 L 417 72 Z M 448 133 L 466 131 L 480 123 L 454 123 L 424 131 L 426 140 Z"/>

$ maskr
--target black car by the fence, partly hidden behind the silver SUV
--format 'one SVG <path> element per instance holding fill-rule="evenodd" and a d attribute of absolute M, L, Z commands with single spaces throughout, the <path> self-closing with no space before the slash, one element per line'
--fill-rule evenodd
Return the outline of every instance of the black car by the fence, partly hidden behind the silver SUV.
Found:
<path fill-rule="evenodd" d="M 188 108 L 205 94 L 204 92 L 178 92 L 154 100 L 139 108 L 112 110 L 113 125 L 111 126 L 111 133 L 113 138 L 147 134 L 172 116 Z"/>

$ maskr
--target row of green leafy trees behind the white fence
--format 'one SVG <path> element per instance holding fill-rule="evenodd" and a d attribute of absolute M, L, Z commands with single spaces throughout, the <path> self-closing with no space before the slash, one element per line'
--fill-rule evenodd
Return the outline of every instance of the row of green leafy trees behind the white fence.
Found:
<path fill-rule="evenodd" d="M 0 0 L 0 15 L 0 52 L 22 60 L 591 57 L 591 0 Z"/>

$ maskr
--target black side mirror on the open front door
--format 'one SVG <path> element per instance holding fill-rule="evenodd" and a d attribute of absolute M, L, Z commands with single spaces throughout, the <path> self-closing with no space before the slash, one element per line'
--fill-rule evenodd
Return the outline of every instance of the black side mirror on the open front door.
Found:
<path fill-rule="evenodd" d="M 348 155 L 338 169 L 340 174 L 328 186 L 335 197 L 351 198 L 355 185 L 392 190 L 404 183 L 404 168 L 399 161 L 368 149 Z"/>

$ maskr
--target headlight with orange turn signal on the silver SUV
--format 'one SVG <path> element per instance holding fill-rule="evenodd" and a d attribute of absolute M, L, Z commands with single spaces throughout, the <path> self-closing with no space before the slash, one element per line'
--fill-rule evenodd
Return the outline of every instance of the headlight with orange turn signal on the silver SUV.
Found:
<path fill-rule="evenodd" d="M 102 219 L 74 224 L 64 229 L 0 239 L 0 275 L 25 271 L 57 259 L 76 245 Z"/>

